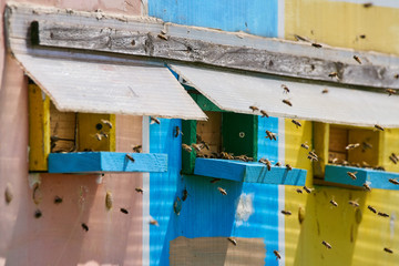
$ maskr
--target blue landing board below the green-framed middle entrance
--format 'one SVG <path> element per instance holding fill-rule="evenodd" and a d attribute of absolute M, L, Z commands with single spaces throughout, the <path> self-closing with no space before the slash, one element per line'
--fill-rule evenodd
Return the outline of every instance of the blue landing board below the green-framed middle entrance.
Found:
<path fill-rule="evenodd" d="M 196 158 L 194 174 L 223 180 L 276 185 L 305 185 L 306 170 L 267 166 L 262 163 L 221 158 Z"/>

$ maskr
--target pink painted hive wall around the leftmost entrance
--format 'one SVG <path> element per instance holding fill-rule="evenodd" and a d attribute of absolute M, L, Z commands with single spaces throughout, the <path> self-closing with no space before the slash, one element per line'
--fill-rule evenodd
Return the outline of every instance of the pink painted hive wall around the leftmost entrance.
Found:
<path fill-rule="evenodd" d="M 24 1 L 27 2 L 27 1 Z M 58 8 L 141 14 L 140 0 L 34 0 Z M 1 1 L 2 13 L 6 1 Z M 2 32 L 1 32 L 1 35 Z M 3 40 L 3 39 L 2 39 Z M 0 266 L 1 265 L 141 265 L 141 174 L 98 175 L 41 174 L 38 196 L 32 200 L 28 177 L 27 80 L 17 62 L 0 43 Z M 131 151 L 141 143 L 141 117 L 116 116 L 116 151 Z M 3 192 L 11 184 L 12 202 Z M 105 193 L 114 206 L 105 208 Z M 54 196 L 63 198 L 59 205 Z M 122 214 L 120 207 L 129 209 Z M 34 218 L 40 208 L 43 216 Z M 81 223 L 89 226 L 84 232 Z"/>

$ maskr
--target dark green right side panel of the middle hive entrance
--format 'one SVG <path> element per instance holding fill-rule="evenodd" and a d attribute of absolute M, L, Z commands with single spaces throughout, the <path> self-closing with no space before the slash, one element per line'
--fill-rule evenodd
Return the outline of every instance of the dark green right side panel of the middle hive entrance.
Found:
<path fill-rule="evenodd" d="M 222 145 L 225 152 L 257 160 L 257 115 L 223 113 Z"/>

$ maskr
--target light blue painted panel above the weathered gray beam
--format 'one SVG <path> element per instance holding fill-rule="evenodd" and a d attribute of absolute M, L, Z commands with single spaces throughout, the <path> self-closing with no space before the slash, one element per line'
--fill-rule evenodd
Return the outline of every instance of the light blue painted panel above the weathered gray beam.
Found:
<path fill-rule="evenodd" d="M 178 24 L 277 37 L 278 0 L 149 0 L 149 14 Z"/>

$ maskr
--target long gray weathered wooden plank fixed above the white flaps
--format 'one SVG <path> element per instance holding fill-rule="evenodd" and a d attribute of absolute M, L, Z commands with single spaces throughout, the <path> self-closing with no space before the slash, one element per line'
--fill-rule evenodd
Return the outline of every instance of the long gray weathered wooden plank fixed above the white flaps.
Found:
<path fill-rule="evenodd" d="M 310 43 L 293 43 L 265 38 L 267 45 L 257 49 L 160 32 L 143 32 L 134 28 L 117 29 L 100 22 L 94 27 L 40 20 L 32 22 L 32 28 L 35 29 L 31 30 L 34 33 L 33 43 L 43 47 L 144 55 L 354 85 L 399 88 L 399 82 L 395 78 L 399 72 L 399 65 L 374 64 L 367 53 L 351 51 L 340 54 L 339 49 L 335 51 L 330 48 L 321 48 L 321 50 L 335 51 L 336 58 L 319 58 L 315 54 L 318 53 L 316 50 L 320 49 L 311 47 Z M 276 45 L 280 45 L 282 51 L 270 49 Z M 289 51 L 288 48 L 293 45 L 295 49 Z M 303 52 L 296 54 L 295 50 Z M 365 59 L 362 64 L 352 59 L 355 54 Z M 337 76 L 329 76 L 332 72 L 336 72 Z"/>

